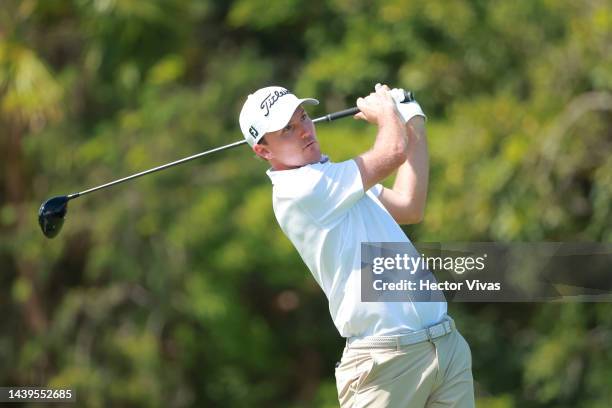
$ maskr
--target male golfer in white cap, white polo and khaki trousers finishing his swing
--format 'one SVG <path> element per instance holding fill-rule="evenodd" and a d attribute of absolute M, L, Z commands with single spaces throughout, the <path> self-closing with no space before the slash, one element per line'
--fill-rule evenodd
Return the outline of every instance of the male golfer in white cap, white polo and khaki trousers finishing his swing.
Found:
<path fill-rule="evenodd" d="M 412 245 L 399 224 L 423 218 L 429 158 L 425 115 L 377 84 L 355 118 L 377 126 L 372 148 L 334 163 L 304 105 L 283 87 L 248 96 L 240 128 L 268 161 L 274 214 L 329 300 L 346 338 L 336 367 L 341 407 L 473 407 L 471 354 L 446 302 L 362 302 L 361 243 Z M 379 184 L 397 171 L 393 188 Z"/>

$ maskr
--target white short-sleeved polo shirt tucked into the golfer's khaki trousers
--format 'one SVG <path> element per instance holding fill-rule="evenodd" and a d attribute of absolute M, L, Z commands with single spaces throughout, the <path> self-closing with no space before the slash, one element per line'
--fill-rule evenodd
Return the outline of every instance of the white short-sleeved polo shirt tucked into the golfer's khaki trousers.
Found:
<path fill-rule="evenodd" d="M 276 219 L 325 292 L 341 336 L 397 335 L 444 317 L 446 302 L 361 302 L 361 243 L 410 240 L 378 200 L 382 186 L 364 192 L 354 160 L 267 174 Z"/>

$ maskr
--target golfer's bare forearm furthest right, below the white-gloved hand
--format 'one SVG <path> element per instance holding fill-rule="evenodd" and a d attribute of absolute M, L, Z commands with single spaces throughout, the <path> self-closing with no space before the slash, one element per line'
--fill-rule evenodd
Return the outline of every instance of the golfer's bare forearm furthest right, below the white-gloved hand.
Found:
<path fill-rule="evenodd" d="M 417 220 L 423 218 L 429 183 L 429 152 L 425 119 L 415 116 L 406 123 L 408 158 L 398 168 L 393 191 L 409 200 L 408 211 Z"/>

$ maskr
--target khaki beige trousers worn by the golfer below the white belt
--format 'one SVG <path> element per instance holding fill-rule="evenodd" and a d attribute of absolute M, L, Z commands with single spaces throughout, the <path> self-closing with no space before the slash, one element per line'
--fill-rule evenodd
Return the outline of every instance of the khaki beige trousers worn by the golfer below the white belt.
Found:
<path fill-rule="evenodd" d="M 341 408 L 474 407 L 472 355 L 457 330 L 399 349 L 345 347 L 336 385 Z"/>

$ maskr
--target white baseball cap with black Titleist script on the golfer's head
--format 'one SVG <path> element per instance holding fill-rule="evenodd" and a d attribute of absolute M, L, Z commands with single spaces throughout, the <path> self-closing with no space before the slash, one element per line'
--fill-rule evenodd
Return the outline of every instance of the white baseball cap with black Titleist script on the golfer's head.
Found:
<path fill-rule="evenodd" d="M 312 98 L 299 99 L 281 86 L 261 88 L 248 96 L 240 111 L 240 130 L 251 146 L 268 132 L 284 128 L 302 103 L 318 105 Z"/>

